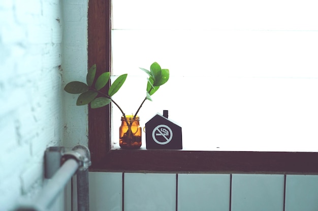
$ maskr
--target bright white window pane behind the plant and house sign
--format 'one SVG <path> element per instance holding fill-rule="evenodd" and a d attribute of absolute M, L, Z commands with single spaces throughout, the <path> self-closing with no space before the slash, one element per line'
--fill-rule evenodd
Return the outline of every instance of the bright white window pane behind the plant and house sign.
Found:
<path fill-rule="evenodd" d="M 129 73 L 114 96 L 124 112 L 145 97 L 139 67 L 170 70 L 142 126 L 165 109 L 185 150 L 318 151 L 316 1 L 115 0 L 112 10 L 113 78 Z M 115 146 L 120 116 L 114 107 Z"/>

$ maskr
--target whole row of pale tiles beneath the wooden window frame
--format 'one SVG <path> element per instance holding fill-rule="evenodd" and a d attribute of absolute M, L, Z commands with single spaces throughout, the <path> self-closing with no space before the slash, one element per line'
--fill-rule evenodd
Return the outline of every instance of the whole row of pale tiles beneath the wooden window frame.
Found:
<path fill-rule="evenodd" d="M 284 175 L 124 174 L 124 211 L 132 210 L 318 210 L 318 176 Z M 122 173 L 89 173 L 90 210 L 122 210 Z"/>

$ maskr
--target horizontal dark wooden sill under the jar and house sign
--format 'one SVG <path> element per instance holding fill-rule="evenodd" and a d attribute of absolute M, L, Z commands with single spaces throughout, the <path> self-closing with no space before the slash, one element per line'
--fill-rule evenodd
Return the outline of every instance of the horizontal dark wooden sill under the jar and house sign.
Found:
<path fill-rule="evenodd" d="M 92 172 L 317 174 L 316 152 L 110 150 Z"/>

